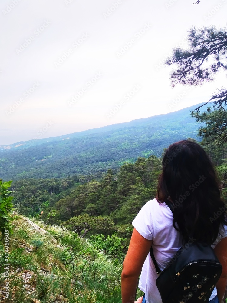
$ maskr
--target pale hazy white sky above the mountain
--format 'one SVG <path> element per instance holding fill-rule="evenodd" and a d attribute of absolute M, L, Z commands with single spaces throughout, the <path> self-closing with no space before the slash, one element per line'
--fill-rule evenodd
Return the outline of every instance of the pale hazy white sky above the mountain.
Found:
<path fill-rule="evenodd" d="M 1 0 L 0 145 L 207 101 L 224 75 L 171 88 L 163 67 L 174 46 L 187 47 L 189 28 L 227 24 L 227 0 L 193 2 Z"/>

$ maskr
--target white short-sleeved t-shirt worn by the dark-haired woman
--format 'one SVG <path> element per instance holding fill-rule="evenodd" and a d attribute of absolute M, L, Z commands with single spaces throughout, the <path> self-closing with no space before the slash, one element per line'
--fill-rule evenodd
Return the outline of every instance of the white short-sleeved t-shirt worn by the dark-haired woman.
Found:
<path fill-rule="evenodd" d="M 140 235 L 147 240 L 153 240 L 154 256 L 162 271 L 182 246 L 182 235 L 173 227 L 172 211 L 165 203 L 159 203 L 153 199 L 143 205 L 132 224 Z M 222 238 L 226 236 L 227 228 L 222 232 Z M 221 237 L 218 236 L 212 248 L 220 241 Z M 145 293 L 147 303 L 162 303 L 156 286 L 157 277 L 158 274 L 149 253 L 143 264 L 139 281 L 139 288 Z M 216 295 L 215 287 L 209 301 Z"/>

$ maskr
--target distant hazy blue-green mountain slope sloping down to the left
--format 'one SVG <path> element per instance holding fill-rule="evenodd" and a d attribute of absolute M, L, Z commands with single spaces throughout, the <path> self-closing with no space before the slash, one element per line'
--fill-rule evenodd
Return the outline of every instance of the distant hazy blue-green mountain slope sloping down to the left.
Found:
<path fill-rule="evenodd" d="M 188 137 L 200 140 L 199 124 L 189 115 L 199 105 L 65 136 L 17 142 L 7 149 L 2 146 L 0 178 L 61 178 L 115 169 L 138 156 L 160 156 L 173 142 Z"/>

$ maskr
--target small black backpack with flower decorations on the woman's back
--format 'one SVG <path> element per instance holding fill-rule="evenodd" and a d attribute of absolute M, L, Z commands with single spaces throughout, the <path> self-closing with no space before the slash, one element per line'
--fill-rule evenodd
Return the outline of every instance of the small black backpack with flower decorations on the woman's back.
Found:
<path fill-rule="evenodd" d="M 166 204 L 171 211 L 172 203 Z M 163 271 L 157 265 L 153 250 L 150 255 L 158 278 L 156 285 L 163 303 L 208 302 L 222 273 L 222 265 L 210 245 L 196 241 L 185 243 Z"/>

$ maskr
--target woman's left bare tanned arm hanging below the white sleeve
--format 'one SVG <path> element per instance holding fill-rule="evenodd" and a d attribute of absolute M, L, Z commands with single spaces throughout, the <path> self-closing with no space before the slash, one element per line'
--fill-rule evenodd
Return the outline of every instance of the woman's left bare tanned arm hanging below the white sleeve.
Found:
<path fill-rule="evenodd" d="M 122 303 L 134 303 L 137 281 L 152 240 L 141 236 L 134 228 L 121 273 Z"/>

